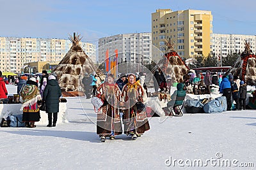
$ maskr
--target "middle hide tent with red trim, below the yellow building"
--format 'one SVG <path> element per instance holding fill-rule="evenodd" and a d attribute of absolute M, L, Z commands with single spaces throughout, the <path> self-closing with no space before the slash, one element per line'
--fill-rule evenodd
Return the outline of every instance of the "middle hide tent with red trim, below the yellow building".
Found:
<path fill-rule="evenodd" d="M 173 46 L 174 43 L 169 39 L 166 41 L 166 46 L 168 48 L 167 53 L 164 54 L 164 57 L 159 60 L 157 66 L 154 67 L 152 73 L 156 69 L 160 68 L 161 71 L 165 74 L 166 77 L 171 78 L 172 82 L 181 83 L 183 82 L 183 76 L 188 73 L 189 67 L 186 66 L 185 62 L 180 58 L 177 52 L 175 52 Z"/>

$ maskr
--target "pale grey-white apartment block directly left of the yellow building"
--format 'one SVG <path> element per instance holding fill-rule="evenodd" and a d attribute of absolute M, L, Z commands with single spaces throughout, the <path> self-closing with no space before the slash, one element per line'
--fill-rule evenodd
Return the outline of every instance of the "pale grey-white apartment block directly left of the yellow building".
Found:
<path fill-rule="evenodd" d="M 109 57 L 115 56 L 118 50 L 118 62 L 151 63 L 151 32 L 118 34 L 99 39 L 99 63 L 106 59 L 106 50 Z"/>

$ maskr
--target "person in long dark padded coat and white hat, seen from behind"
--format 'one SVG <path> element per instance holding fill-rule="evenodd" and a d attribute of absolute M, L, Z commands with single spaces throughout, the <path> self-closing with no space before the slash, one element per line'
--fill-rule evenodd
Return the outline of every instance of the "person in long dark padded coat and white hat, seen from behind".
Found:
<path fill-rule="evenodd" d="M 55 127 L 59 112 L 61 89 L 55 76 L 49 76 L 48 80 L 49 81 L 47 82 L 47 85 L 44 89 L 43 101 L 45 102 L 46 113 L 48 113 L 49 124 L 47 125 L 47 127 Z"/>

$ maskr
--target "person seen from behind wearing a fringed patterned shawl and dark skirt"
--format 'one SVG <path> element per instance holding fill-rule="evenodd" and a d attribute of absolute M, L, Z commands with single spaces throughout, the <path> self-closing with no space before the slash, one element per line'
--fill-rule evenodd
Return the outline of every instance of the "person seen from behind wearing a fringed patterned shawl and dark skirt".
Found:
<path fill-rule="evenodd" d="M 26 127 L 36 127 L 35 122 L 40 121 L 40 111 L 38 101 L 41 101 L 41 95 L 38 90 L 36 78 L 31 77 L 20 92 L 23 110 L 22 121 Z"/>

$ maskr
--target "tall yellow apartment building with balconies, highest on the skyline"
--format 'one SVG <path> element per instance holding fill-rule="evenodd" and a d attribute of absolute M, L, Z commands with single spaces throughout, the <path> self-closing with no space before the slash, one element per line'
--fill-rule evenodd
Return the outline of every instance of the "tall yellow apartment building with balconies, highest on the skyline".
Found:
<path fill-rule="evenodd" d="M 164 39 L 171 38 L 180 57 L 207 56 L 211 53 L 211 11 L 156 10 L 152 13 L 152 59 L 158 60 L 166 51 Z M 159 49 L 159 50 L 158 50 Z"/>

